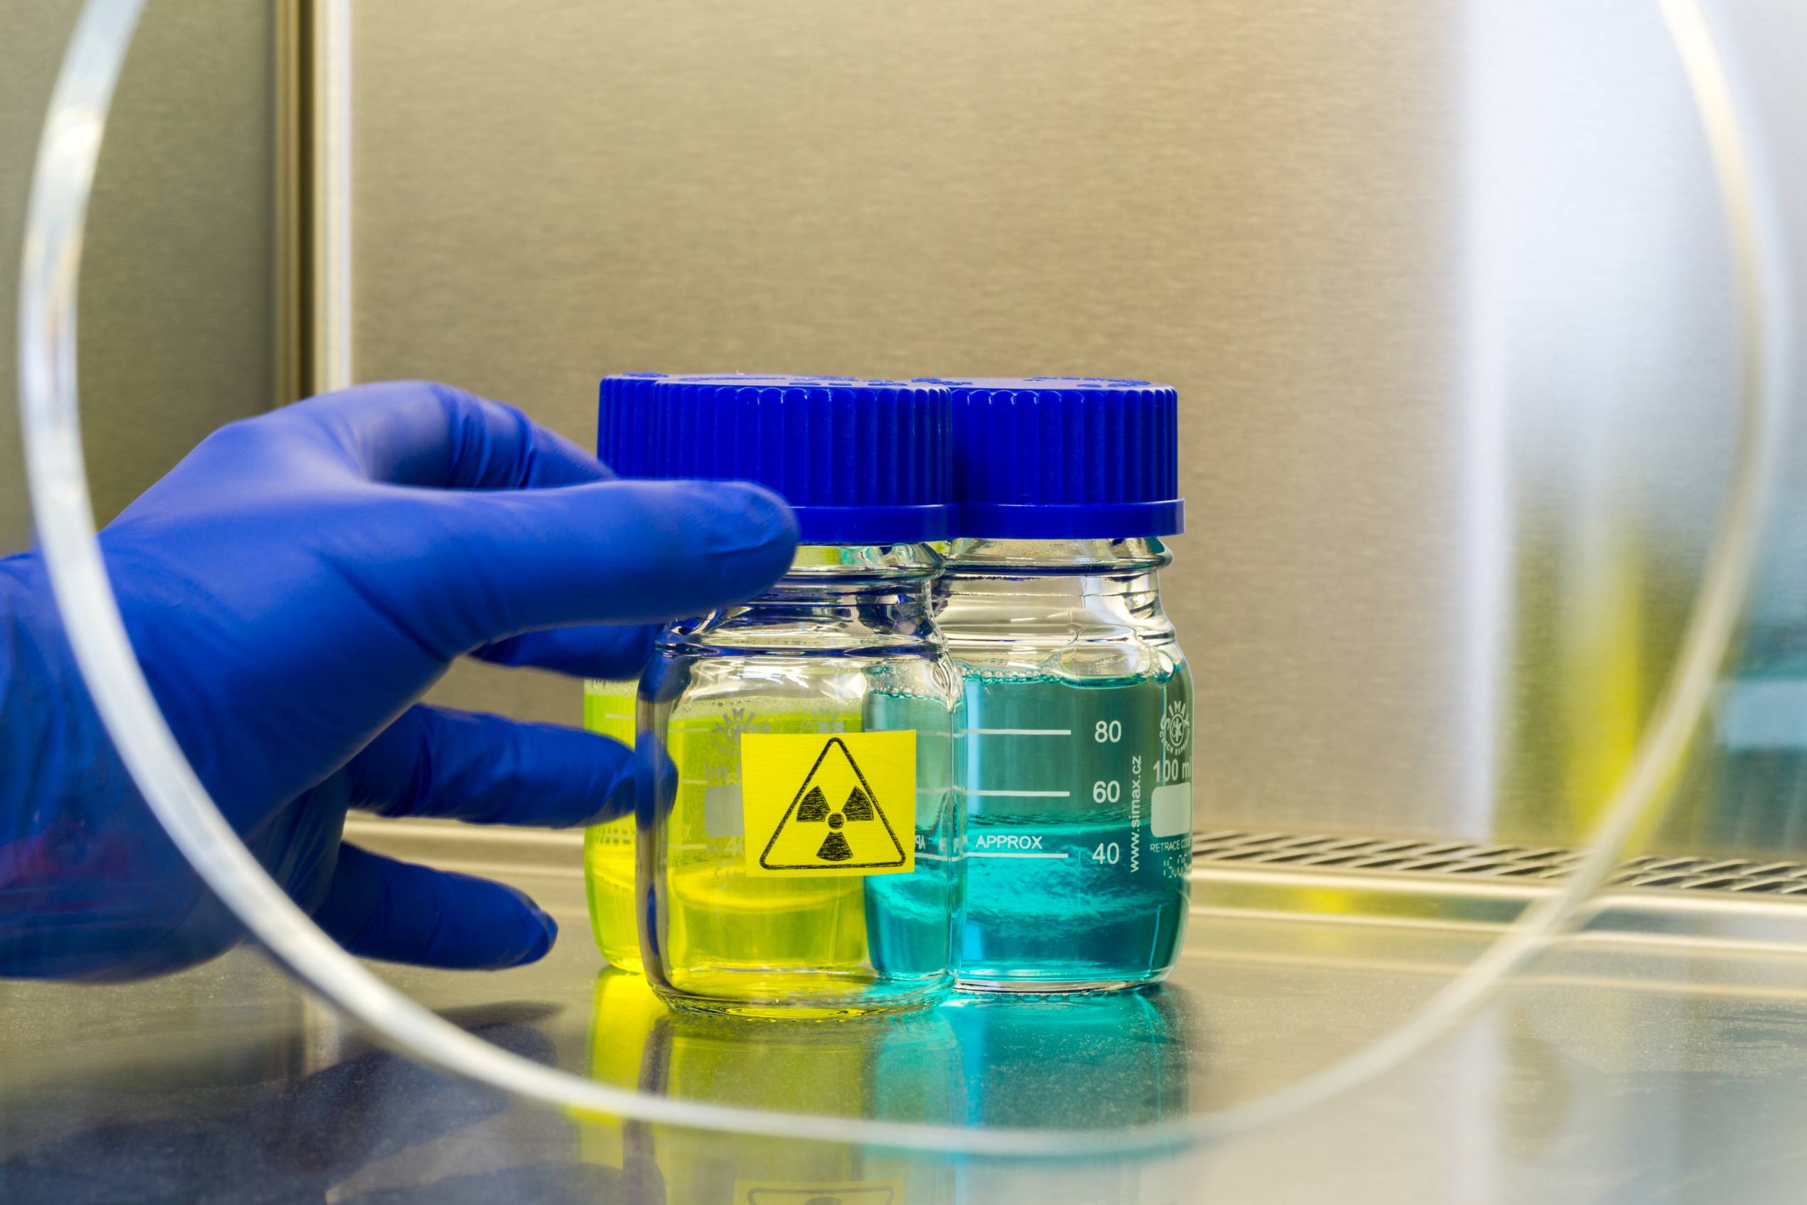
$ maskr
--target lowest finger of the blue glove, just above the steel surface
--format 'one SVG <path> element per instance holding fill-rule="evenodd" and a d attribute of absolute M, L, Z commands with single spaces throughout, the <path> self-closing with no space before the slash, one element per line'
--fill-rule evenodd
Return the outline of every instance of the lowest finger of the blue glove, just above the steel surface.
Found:
<path fill-rule="evenodd" d="M 558 923 L 526 894 L 342 845 L 320 925 L 349 952 L 448 970 L 506 970 L 553 948 Z"/>

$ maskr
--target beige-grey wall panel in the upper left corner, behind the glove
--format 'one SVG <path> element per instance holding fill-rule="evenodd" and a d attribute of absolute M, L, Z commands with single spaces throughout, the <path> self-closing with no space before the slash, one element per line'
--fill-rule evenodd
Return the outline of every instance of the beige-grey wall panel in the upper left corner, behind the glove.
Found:
<path fill-rule="evenodd" d="M 18 251 L 74 0 L 0 0 L 0 553 L 31 540 L 18 432 Z M 275 396 L 275 18 L 146 5 L 81 260 L 81 417 L 105 522 L 215 426 Z"/>

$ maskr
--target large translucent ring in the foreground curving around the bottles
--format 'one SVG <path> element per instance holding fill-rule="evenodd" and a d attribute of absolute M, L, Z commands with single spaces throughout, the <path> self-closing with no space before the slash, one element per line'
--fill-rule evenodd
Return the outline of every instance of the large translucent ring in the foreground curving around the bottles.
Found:
<path fill-rule="evenodd" d="M 1554 936 L 1583 916 L 1594 892 L 1621 856 L 1628 838 L 1664 806 L 1688 744 L 1700 730 L 1744 612 L 1758 551 L 1760 518 L 1773 506 L 1782 425 L 1787 417 L 1791 313 L 1787 264 L 1773 190 L 1762 170 L 1760 148 L 1749 137 L 1749 103 L 1727 78 L 1711 23 L 1693 0 L 1661 4 L 1682 69 L 1700 110 L 1733 253 L 1740 316 L 1742 426 L 1729 504 L 1711 560 L 1699 584 L 1671 677 L 1635 755 L 1614 788 L 1585 855 L 1558 887 L 1538 898 L 1496 939 L 1475 945 L 1455 974 L 1409 1015 L 1399 1017 L 1379 1039 L 1310 1068 L 1285 1086 L 1229 1107 L 1198 1109 L 1196 1102 L 1169 1100 L 1140 1116 L 1109 1115 L 1106 1129 L 1079 1118 L 1012 1116 L 1010 1100 L 1053 1086 L 999 1086 L 997 1107 L 974 1111 L 950 1102 L 932 1070 L 952 1051 L 1039 1051 L 1010 1057 L 1008 1066 L 1057 1062 L 1059 1044 L 1097 1042 L 1155 1033 L 1171 1021 L 1158 1001 L 1119 997 L 1081 1001 L 1053 1024 L 1039 1008 L 999 1012 L 983 1003 L 960 1004 L 945 1015 L 909 1023 L 907 1033 L 884 1042 L 857 1041 L 855 1030 L 797 1033 L 802 1046 L 847 1046 L 846 1059 L 889 1060 L 887 1089 L 896 1107 L 831 1100 L 802 1093 L 795 1109 L 772 1100 L 741 1100 L 734 1084 L 782 1082 L 782 1073 L 761 1077 L 744 1066 L 757 1051 L 775 1066 L 835 1059 L 835 1050 L 784 1051 L 784 1042 L 743 1042 L 708 1024 L 647 1014 L 647 1041 L 679 1051 L 667 1071 L 703 1084 L 694 1095 L 672 1093 L 669 1082 L 649 1084 L 609 1070 L 611 1046 L 598 1039 L 591 1075 L 569 1075 L 519 1057 L 475 1037 L 412 999 L 398 994 L 369 968 L 340 950 L 264 874 L 226 826 L 175 744 L 126 641 L 117 603 L 96 544 L 94 513 L 85 477 L 76 388 L 76 287 L 81 237 L 96 159 L 119 67 L 126 54 L 141 0 L 90 0 L 63 61 L 38 150 L 31 191 L 25 255 L 20 278 L 18 361 L 20 399 L 29 453 L 33 504 L 58 607 L 67 623 L 81 672 L 152 809 L 197 873 L 246 923 L 248 930 L 302 983 L 354 1017 L 385 1044 L 426 1064 L 501 1088 L 580 1116 L 625 1118 L 623 1126 L 656 1126 L 793 1142 L 873 1144 L 891 1151 L 956 1151 L 1003 1156 L 1124 1156 L 1171 1151 L 1247 1131 L 1334 1098 L 1384 1071 L 1471 1015 L 1498 986 L 1540 954 Z M 596 985 L 598 1008 L 622 1006 L 638 1015 L 632 985 L 607 976 Z M 616 997 L 613 1001 L 604 997 Z M 1084 1014 L 1084 1015 L 1079 1015 Z M 598 1012 L 598 1015 L 602 1015 Z M 1093 1026 L 1086 1030 L 1086 1026 Z M 627 1030 L 634 1024 L 627 1023 Z M 661 1037 L 660 1037 L 661 1035 Z M 786 1039 L 790 1041 L 790 1039 Z M 654 1042 L 656 1044 L 656 1042 Z M 1158 1048 L 1156 1041 L 1147 1042 Z M 681 1057 L 679 1057 L 681 1055 Z M 1155 1084 L 1162 1068 L 1144 1068 Z M 1151 1077 L 1151 1079 L 1149 1079 Z M 811 1107 L 817 1106 L 817 1107 Z M 629 1126 L 631 1124 L 631 1126 Z M 625 1131 L 623 1131 L 625 1133 Z M 638 1131 L 636 1131 L 638 1133 Z M 907 1154 L 898 1154 L 907 1160 Z"/>

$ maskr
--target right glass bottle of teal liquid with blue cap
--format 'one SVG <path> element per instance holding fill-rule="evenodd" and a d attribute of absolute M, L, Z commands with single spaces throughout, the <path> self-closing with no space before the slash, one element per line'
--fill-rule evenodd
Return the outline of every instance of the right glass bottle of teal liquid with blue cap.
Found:
<path fill-rule="evenodd" d="M 960 986 L 1164 979 L 1193 862 L 1193 679 L 1160 605 L 1178 397 L 1147 381 L 945 381 L 958 538 L 936 620 L 963 677 Z"/>

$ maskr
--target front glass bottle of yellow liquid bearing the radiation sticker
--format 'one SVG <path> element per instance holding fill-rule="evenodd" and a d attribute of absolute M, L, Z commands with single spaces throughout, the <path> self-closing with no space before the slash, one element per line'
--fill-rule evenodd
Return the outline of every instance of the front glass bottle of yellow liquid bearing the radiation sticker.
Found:
<path fill-rule="evenodd" d="M 670 627 L 640 681 L 634 912 L 667 1003 L 824 1017 L 952 986 L 960 676 L 931 546 L 949 419 L 922 383 L 651 390 L 641 475 L 770 486 L 801 535 L 784 578 Z"/>

